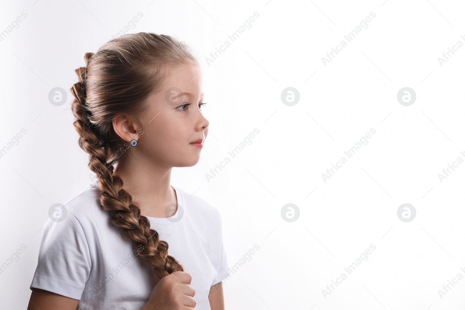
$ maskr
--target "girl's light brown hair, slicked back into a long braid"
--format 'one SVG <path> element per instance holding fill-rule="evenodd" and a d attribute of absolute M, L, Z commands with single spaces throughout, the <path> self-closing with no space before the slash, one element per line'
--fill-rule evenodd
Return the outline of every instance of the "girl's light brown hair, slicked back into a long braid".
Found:
<path fill-rule="evenodd" d="M 163 89 L 170 70 L 183 64 L 198 64 L 184 42 L 156 33 L 127 33 L 112 39 L 97 51 L 85 53 L 86 66 L 71 88 L 80 148 L 89 154 L 90 170 L 100 187 L 99 205 L 108 211 L 111 223 L 133 242 L 134 253 L 161 279 L 184 267 L 168 255 L 168 244 L 159 239 L 140 205 L 125 191 L 123 180 L 113 175 L 115 164 L 125 159 L 124 145 L 113 129 L 113 117 L 130 114 L 145 119 L 144 101 Z"/>

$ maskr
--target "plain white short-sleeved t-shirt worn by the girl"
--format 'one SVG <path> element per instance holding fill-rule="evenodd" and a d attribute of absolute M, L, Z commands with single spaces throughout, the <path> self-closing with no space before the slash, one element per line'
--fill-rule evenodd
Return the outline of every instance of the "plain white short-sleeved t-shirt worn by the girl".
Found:
<path fill-rule="evenodd" d="M 94 187 L 99 188 L 97 182 L 46 221 L 30 288 L 79 299 L 80 310 L 139 310 L 159 279 L 135 255 L 133 242 L 120 237 L 109 212 L 98 205 Z M 205 200 L 172 187 L 178 201 L 176 213 L 170 218 L 147 218 L 168 243 L 168 254 L 192 275 L 195 309 L 210 310 L 210 287 L 231 274 L 221 215 Z"/>

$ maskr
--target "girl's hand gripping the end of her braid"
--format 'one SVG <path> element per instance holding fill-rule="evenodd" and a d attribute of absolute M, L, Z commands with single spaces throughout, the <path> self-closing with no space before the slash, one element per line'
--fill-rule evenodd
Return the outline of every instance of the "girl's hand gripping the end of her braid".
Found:
<path fill-rule="evenodd" d="M 184 271 L 162 277 L 140 310 L 194 310 L 195 289 L 190 285 L 191 280 L 192 276 Z"/>

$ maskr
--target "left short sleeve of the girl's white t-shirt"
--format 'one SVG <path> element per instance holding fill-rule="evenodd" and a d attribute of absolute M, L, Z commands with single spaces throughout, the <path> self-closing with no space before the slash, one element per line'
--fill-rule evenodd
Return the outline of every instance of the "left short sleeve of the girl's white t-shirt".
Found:
<path fill-rule="evenodd" d="M 63 221 L 48 219 L 44 224 L 39 260 L 29 288 L 79 300 L 91 270 L 86 235 L 74 214 L 66 210 Z"/>

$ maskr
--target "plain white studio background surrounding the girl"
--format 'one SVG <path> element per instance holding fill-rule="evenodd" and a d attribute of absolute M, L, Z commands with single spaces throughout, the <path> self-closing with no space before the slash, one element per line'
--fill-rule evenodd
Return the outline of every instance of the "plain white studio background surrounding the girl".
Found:
<path fill-rule="evenodd" d="M 51 1 L 2 4 L 0 31 L 27 17 L 0 42 L 0 264 L 27 250 L 0 275 L 2 307 L 26 309 L 41 229 L 52 204 L 91 182 L 77 144 L 69 89 L 84 53 L 96 52 L 138 12 L 130 32 L 170 34 L 200 59 L 210 133 L 199 163 L 173 168 L 172 184 L 216 206 L 229 266 L 259 250 L 224 282 L 226 309 L 464 309 L 465 43 L 461 1 Z M 210 66 L 205 58 L 259 18 Z M 368 27 L 347 35 L 369 16 Z M 326 66 L 322 57 L 345 46 Z M 48 100 L 68 92 L 63 106 Z M 294 106 L 281 101 L 299 91 Z M 397 93 L 417 99 L 403 106 Z M 210 182 L 206 173 L 253 131 L 252 139 Z M 376 133 L 333 176 L 336 164 L 370 128 Z M 347 158 L 347 157 L 346 157 Z M 299 218 L 281 217 L 296 204 Z M 416 217 L 397 210 L 412 204 Z M 344 270 L 370 244 L 376 250 Z M 347 278 L 326 298 L 322 290 Z"/>

